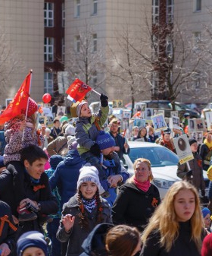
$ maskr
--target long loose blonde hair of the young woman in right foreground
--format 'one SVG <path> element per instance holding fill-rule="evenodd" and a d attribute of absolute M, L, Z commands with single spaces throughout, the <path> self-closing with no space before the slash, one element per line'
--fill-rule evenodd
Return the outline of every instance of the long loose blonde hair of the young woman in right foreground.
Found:
<path fill-rule="evenodd" d="M 175 182 L 167 191 L 164 200 L 154 211 L 151 219 L 149 220 L 148 226 L 142 234 L 143 243 L 146 242 L 151 232 L 158 229 L 161 234 L 161 247 L 164 247 L 167 252 L 170 251 L 173 243 L 179 235 L 179 222 L 177 221 L 177 216 L 174 210 L 174 200 L 176 198 L 176 194 L 178 194 L 182 189 L 188 189 L 195 195 L 195 211 L 191 218 L 192 240 L 195 242 L 198 251 L 201 251 L 201 232 L 204 223 L 201 216 L 198 191 L 191 183 L 186 181 Z"/>

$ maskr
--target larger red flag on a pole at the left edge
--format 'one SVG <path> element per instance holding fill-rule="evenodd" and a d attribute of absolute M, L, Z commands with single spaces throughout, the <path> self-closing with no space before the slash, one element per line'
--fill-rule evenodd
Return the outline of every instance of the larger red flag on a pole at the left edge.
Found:
<path fill-rule="evenodd" d="M 0 115 L 0 125 L 5 124 L 5 122 L 13 119 L 15 116 L 20 115 L 22 109 L 27 109 L 27 102 L 30 96 L 31 74 L 32 72 L 27 74 L 27 77 L 15 94 L 14 99 L 9 103 L 2 115 Z"/>

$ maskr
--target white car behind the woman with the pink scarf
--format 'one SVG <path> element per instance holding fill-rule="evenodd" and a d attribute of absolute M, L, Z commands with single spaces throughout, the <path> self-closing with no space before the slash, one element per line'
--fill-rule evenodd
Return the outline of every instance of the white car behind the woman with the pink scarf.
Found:
<path fill-rule="evenodd" d="M 123 155 L 126 163 L 124 165 L 130 175 L 134 174 L 133 163 L 137 158 L 146 158 L 151 162 L 151 171 L 154 176 L 152 183 L 158 188 L 161 199 L 174 182 L 181 180 L 176 175 L 178 156 L 167 147 L 142 141 L 129 141 L 129 155 Z M 208 194 L 209 179 L 204 171 L 204 182 L 206 184 L 206 195 Z"/>

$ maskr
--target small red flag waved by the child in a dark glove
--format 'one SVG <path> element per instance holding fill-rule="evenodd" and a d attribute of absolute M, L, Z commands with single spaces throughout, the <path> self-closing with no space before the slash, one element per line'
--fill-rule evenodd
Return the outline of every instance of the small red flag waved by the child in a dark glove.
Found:
<path fill-rule="evenodd" d="M 73 84 L 70 84 L 70 87 L 66 91 L 68 94 L 67 99 L 74 103 L 76 103 L 76 101 L 82 101 L 85 98 L 86 93 L 90 90 L 92 90 L 91 87 L 76 78 Z"/>

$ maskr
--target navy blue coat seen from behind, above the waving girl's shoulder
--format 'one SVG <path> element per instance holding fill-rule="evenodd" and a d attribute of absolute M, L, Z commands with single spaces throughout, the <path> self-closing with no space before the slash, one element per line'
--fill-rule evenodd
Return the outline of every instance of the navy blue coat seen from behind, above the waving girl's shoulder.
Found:
<path fill-rule="evenodd" d="M 80 175 L 80 168 L 84 164 L 86 164 L 86 161 L 80 157 L 77 150 L 69 150 L 49 179 L 52 190 L 58 187 L 61 195 L 61 208 L 76 194 L 76 183 Z"/>

